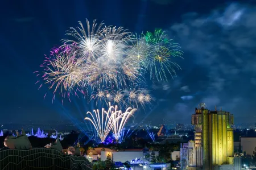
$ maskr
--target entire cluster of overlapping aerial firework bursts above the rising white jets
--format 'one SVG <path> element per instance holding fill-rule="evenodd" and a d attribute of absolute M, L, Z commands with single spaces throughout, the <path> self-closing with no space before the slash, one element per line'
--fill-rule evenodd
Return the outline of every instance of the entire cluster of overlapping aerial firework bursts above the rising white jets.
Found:
<path fill-rule="evenodd" d="M 79 24 L 67 32 L 70 39 L 63 40 L 64 44 L 46 57 L 40 65 L 42 73 L 36 72 L 44 81 L 39 88 L 47 84 L 53 90 L 53 99 L 57 92 L 68 98 L 80 92 L 96 105 L 113 102 L 119 107 L 144 108 L 153 98 L 129 84 L 143 83 L 148 74 L 151 79 L 167 81 L 167 74 L 175 75 L 175 67 L 180 69 L 172 61 L 172 57 L 183 54 L 179 44 L 162 30 L 137 36 L 122 27 L 97 24 L 96 20 L 92 24 L 86 20 L 85 27 Z"/>

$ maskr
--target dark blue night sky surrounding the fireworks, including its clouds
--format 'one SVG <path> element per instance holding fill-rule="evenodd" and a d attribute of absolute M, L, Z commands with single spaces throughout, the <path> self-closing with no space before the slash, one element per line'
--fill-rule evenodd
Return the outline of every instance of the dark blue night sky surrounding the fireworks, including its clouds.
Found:
<path fill-rule="evenodd" d="M 154 104 L 143 118 L 190 122 L 200 102 L 230 111 L 235 123 L 256 122 L 256 2 L 254 1 L 3 1 L 1 2 L 0 123 L 82 121 L 84 101 L 64 106 L 43 99 L 34 71 L 65 31 L 85 19 L 122 26 L 130 32 L 162 28 L 181 45 L 177 77 L 151 86 Z"/>

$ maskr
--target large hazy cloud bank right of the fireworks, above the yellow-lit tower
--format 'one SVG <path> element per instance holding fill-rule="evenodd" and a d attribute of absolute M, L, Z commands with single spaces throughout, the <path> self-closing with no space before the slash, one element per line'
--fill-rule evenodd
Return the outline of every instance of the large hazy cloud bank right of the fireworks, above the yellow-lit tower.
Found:
<path fill-rule="evenodd" d="M 256 90 L 256 7 L 232 3 L 208 14 L 187 13 L 182 18 L 172 24 L 169 34 L 184 51 L 183 68 L 197 70 L 184 69 L 182 83 L 191 91 L 204 92 L 189 106 L 201 101 L 208 109 L 222 105 L 235 116 L 256 109 L 251 102 L 256 99 L 251 93 Z M 238 103 L 250 108 L 237 108 Z"/>

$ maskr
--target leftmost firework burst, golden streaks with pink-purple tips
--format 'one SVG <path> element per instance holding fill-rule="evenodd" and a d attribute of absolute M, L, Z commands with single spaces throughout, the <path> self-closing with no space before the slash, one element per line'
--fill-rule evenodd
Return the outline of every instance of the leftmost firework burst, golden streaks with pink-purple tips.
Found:
<path fill-rule="evenodd" d="M 40 65 L 44 68 L 42 72 L 44 83 L 48 85 L 48 89 L 53 89 L 53 97 L 57 90 L 60 91 L 61 96 L 69 97 L 74 87 L 79 86 L 83 78 L 82 64 L 76 58 L 76 51 L 67 46 L 59 47 L 51 51 L 51 55 L 45 58 L 44 63 Z"/>

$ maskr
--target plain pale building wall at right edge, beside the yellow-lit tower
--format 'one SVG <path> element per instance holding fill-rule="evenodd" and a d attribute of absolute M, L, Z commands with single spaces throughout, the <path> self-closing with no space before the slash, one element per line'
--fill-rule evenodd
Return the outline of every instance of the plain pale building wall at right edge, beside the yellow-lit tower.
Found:
<path fill-rule="evenodd" d="M 256 138 L 241 137 L 241 146 L 243 152 L 253 155 L 254 148 L 256 147 Z"/>

